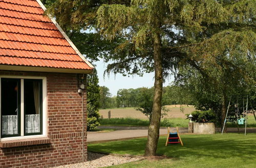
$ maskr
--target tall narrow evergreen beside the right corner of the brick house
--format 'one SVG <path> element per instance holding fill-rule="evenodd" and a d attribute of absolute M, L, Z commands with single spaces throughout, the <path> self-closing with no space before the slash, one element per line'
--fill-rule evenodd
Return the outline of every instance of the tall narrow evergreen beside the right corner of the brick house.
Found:
<path fill-rule="evenodd" d="M 87 76 L 87 130 L 99 126 L 99 79 L 96 69 Z"/>

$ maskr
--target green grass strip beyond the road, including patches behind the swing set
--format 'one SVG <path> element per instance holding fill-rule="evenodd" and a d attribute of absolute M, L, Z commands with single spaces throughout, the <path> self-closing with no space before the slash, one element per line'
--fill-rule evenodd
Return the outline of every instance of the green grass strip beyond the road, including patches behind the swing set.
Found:
<path fill-rule="evenodd" d="M 99 123 L 101 126 L 148 126 L 149 121 L 144 119 L 134 119 L 134 118 L 113 118 L 113 119 L 100 119 Z M 188 120 L 182 118 L 171 118 L 162 119 L 161 127 L 188 127 Z M 237 127 L 236 124 L 227 123 L 227 127 Z M 240 125 L 240 128 L 244 128 L 245 125 Z M 256 127 L 256 121 L 253 116 L 248 116 L 248 128 Z"/>

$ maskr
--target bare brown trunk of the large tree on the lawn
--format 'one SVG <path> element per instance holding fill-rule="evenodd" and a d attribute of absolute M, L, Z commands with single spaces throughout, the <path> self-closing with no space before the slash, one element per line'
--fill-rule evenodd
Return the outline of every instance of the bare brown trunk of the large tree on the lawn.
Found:
<path fill-rule="evenodd" d="M 155 94 L 153 100 L 152 117 L 148 127 L 145 156 L 155 156 L 159 139 L 159 128 L 161 120 L 161 101 L 163 90 L 163 68 L 161 58 L 160 35 L 154 37 L 154 65 L 155 65 Z"/>

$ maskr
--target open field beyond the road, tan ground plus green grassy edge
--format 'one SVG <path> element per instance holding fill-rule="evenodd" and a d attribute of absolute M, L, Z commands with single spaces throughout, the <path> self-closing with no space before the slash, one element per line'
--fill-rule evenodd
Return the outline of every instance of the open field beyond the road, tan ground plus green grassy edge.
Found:
<path fill-rule="evenodd" d="M 188 127 L 188 120 L 185 114 L 190 114 L 190 112 L 195 110 L 194 106 L 183 105 L 167 105 L 165 106 L 169 109 L 167 116 L 161 119 L 162 127 Z M 183 113 L 181 111 L 183 109 Z M 111 120 L 108 119 L 108 111 L 111 110 Z M 140 111 L 135 110 L 135 108 L 115 108 L 115 109 L 100 109 L 100 115 L 103 119 L 99 122 L 104 126 L 148 126 L 148 118 L 143 115 Z M 236 124 L 227 123 L 227 127 L 237 127 Z M 244 125 L 239 125 L 240 128 L 245 127 Z M 247 127 L 256 127 L 256 121 L 253 114 L 248 114 Z"/>

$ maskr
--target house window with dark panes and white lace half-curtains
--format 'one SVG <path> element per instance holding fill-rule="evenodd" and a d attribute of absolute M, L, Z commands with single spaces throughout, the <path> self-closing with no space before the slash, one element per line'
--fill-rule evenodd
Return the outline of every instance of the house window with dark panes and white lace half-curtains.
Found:
<path fill-rule="evenodd" d="M 1 137 L 42 134 L 42 79 L 1 78 Z"/>

